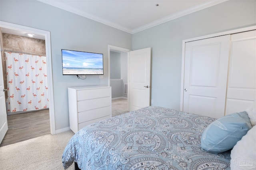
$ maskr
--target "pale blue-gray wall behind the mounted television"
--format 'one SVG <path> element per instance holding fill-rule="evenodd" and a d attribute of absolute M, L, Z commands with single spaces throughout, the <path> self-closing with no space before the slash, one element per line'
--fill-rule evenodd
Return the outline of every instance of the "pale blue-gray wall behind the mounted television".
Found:
<path fill-rule="evenodd" d="M 132 48 L 132 35 L 36 0 L 0 0 L 0 20 L 50 31 L 55 129 L 69 127 L 68 87 L 108 85 L 108 45 Z M 104 78 L 62 75 L 61 49 L 103 53 Z"/>

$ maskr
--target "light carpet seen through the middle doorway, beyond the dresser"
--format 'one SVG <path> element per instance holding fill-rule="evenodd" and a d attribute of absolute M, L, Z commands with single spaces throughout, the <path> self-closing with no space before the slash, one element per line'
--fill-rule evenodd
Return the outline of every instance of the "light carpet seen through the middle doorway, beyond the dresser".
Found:
<path fill-rule="evenodd" d="M 128 112 L 127 99 L 119 98 L 112 100 L 112 116 L 120 115 Z"/>

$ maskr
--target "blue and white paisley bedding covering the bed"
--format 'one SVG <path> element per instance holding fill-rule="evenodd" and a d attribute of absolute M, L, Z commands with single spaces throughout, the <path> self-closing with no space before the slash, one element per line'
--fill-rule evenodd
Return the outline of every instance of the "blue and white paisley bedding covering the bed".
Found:
<path fill-rule="evenodd" d="M 81 170 L 230 170 L 230 151 L 201 150 L 214 118 L 164 107 L 144 107 L 88 125 L 68 142 L 64 168 Z"/>

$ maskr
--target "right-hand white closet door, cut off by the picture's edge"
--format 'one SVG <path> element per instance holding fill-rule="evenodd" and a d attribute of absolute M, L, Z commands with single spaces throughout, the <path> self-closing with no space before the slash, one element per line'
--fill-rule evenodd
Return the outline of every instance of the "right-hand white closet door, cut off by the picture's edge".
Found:
<path fill-rule="evenodd" d="M 226 115 L 255 108 L 256 31 L 231 35 Z"/>

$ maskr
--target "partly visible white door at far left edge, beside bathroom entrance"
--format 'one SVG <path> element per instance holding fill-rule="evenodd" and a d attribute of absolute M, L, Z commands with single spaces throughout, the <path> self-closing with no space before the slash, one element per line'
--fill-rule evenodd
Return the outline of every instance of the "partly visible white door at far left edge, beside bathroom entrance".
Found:
<path fill-rule="evenodd" d="M 7 124 L 7 113 L 6 113 L 6 105 L 5 105 L 5 97 L 4 97 L 4 77 L 2 70 L 2 60 L 0 54 L 0 143 L 4 139 L 4 135 L 8 130 Z"/>

